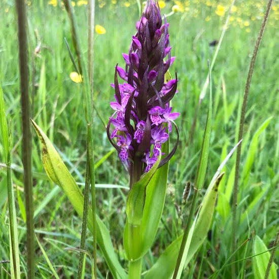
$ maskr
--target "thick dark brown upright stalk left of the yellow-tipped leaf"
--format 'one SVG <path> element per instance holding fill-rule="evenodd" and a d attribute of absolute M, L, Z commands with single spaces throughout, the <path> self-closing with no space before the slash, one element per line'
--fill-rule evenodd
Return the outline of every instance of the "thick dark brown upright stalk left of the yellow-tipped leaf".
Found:
<path fill-rule="evenodd" d="M 18 45 L 19 45 L 19 72 L 20 93 L 22 110 L 22 156 L 24 167 L 24 195 L 26 206 L 26 240 L 27 240 L 27 275 L 34 278 L 34 222 L 33 222 L 33 185 L 32 185 L 32 149 L 30 129 L 30 105 L 29 105 L 29 70 L 28 70 L 28 43 L 27 43 L 27 17 L 24 0 L 16 1 L 18 15 Z"/>

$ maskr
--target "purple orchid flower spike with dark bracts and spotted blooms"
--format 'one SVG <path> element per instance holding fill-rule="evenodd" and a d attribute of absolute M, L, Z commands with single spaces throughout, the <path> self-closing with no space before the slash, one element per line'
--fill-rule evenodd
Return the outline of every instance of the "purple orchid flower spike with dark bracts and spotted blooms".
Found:
<path fill-rule="evenodd" d="M 167 83 L 164 81 L 165 73 L 175 60 L 170 55 L 168 26 L 165 18 L 162 22 L 158 2 L 149 0 L 141 20 L 136 23 L 137 32 L 132 36 L 129 53 L 122 53 L 125 67 L 116 65 L 115 69 L 112 86 L 116 102 L 111 102 L 115 113 L 109 120 L 107 133 L 134 181 L 156 162 L 172 125 L 176 127 L 177 142 L 170 153 L 162 157 L 159 167 L 172 157 L 178 146 L 179 133 L 173 121 L 180 114 L 172 113 L 169 103 L 177 93 L 177 75 Z"/>

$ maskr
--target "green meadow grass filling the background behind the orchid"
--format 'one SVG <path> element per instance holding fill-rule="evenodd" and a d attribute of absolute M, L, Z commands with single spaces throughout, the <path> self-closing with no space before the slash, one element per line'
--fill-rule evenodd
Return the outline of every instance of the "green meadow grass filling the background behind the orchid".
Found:
<path fill-rule="evenodd" d="M 99 4 L 102 2 L 98 2 Z M 257 2 L 264 9 L 263 4 Z M 186 3 L 187 4 L 187 3 Z M 192 121 L 198 105 L 199 94 L 207 76 L 207 59 L 212 59 L 215 47 L 209 43 L 220 38 L 225 17 L 219 17 L 215 6 L 206 6 L 202 1 L 194 1 L 184 6 L 184 12 L 167 18 L 170 27 L 172 56 L 177 59 L 170 68 L 172 76 L 178 72 L 179 85 L 176 98 L 172 101 L 175 111 L 181 113 L 177 119 L 180 129 L 179 148 L 170 161 L 169 186 L 166 196 L 162 222 L 152 251 L 145 256 L 143 271 L 149 269 L 165 247 L 179 236 L 185 227 L 189 214 L 190 200 L 182 205 L 182 194 L 187 181 L 194 182 L 199 152 L 208 108 L 208 96 L 204 98 L 198 112 L 196 129 L 190 140 Z M 213 4 L 214 5 L 214 4 Z M 241 5 L 245 5 L 241 7 Z M 94 103 L 101 119 L 105 121 L 112 114 L 110 101 L 113 100 L 115 65 L 123 65 L 122 52 L 127 52 L 134 24 L 138 20 L 136 4 L 122 7 L 107 3 L 103 8 L 96 6 L 95 22 L 104 26 L 106 34 L 95 35 L 94 60 Z M 250 2 L 236 3 L 238 11 L 225 33 L 220 52 L 212 71 L 213 121 L 211 148 L 205 176 L 205 192 L 212 176 L 227 153 L 237 141 L 237 123 L 245 89 L 249 64 L 256 42 L 260 19 L 252 20 L 253 15 L 261 18 L 260 8 Z M 276 2 L 273 7 L 277 7 Z M 8 124 L 11 119 L 12 130 L 12 178 L 17 186 L 17 194 L 24 201 L 22 176 L 22 130 L 20 120 L 19 71 L 17 27 L 15 7 L 10 2 L 0 4 L 3 18 L 0 33 L 0 80 Z M 162 9 L 169 13 L 171 4 Z M 189 10 L 187 10 L 189 8 Z M 220 7 L 219 7 L 220 8 Z M 279 10 L 279 7 L 277 7 Z M 8 9 L 8 11 L 7 11 Z M 87 22 L 86 6 L 75 7 L 80 30 L 81 48 L 86 53 Z M 246 11 L 248 9 L 248 11 Z M 238 12 L 241 14 L 238 14 Z M 248 13 L 251 13 L 249 16 Z M 239 13 L 240 13 L 239 12 Z M 240 184 L 238 193 L 239 227 L 236 230 L 238 246 L 247 238 L 257 234 L 268 247 L 275 239 L 278 230 L 279 200 L 279 28 L 276 20 L 277 10 L 273 9 L 267 24 L 263 41 L 255 64 L 250 95 L 247 105 L 246 122 L 243 132 Z M 209 21 L 205 19 L 211 17 Z M 238 22 L 237 18 L 241 19 Z M 208 19 L 208 18 L 207 18 Z M 250 20 L 249 20 L 250 19 Z M 249 20 L 249 26 L 245 22 Z M 29 46 L 33 53 L 36 46 L 41 52 L 34 55 L 36 74 L 34 79 L 33 118 L 47 133 L 58 148 L 64 162 L 71 169 L 74 178 L 85 182 L 86 170 L 86 121 L 84 119 L 82 87 L 74 83 L 69 74 L 75 71 L 64 38 L 73 50 L 70 26 L 65 11 L 48 5 L 46 1 L 32 2 L 28 6 Z M 234 24 L 235 23 L 235 24 Z M 243 26 L 242 26 L 242 25 Z M 234 26 L 235 25 L 235 26 Z M 242 28 L 241 28 L 242 27 Z M 247 30 L 247 29 L 250 29 Z M 31 62 L 30 62 L 31 70 Z M 39 88 L 37 88 L 38 86 Z M 30 89 L 30 91 L 32 88 Z M 95 162 L 112 150 L 106 137 L 106 129 L 101 119 L 94 115 Z M 261 128 L 261 129 L 259 129 Z M 34 218 L 35 232 L 41 245 L 60 277 L 75 277 L 78 268 L 78 252 L 64 250 L 77 248 L 80 244 L 81 219 L 73 211 L 71 203 L 45 176 L 39 142 L 33 132 L 32 141 L 34 176 Z M 0 158 L 4 158 L 3 142 L 0 142 Z M 1 163 L 3 163 L 1 161 Z M 232 231 L 232 187 L 234 179 L 235 155 L 223 169 L 225 175 L 219 186 L 219 198 L 214 214 L 212 229 L 207 240 L 187 267 L 189 277 L 209 277 L 223 267 L 231 257 Z M 6 193 L 6 169 L 0 172 L 0 261 L 9 260 L 8 205 Z M 128 176 L 119 163 L 116 152 L 96 168 L 96 184 L 128 185 Z M 96 188 L 96 206 L 98 216 L 112 232 L 116 253 L 124 264 L 122 234 L 125 224 L 125 202 L 127 190 L 115 188 Z M 17 196 L 15 194 L 15 196 Z M 24 206 L 16 198 L 18 238 L 21 271 L 27 274 L 26 266 L 26 229 Z M 235 257 L 241 259 L 253 255 L 253 240 L 241 247 Z M 93 251 L 91 236 L 86 241 L 86 250 Z M 211 251 L 211 254 L 210 252 Z M 207 253 L 208 252 L 208 253 Z M 108 268 L 99 251 L 97 252 L 98 277 L 106 277 Z M 275 262 L 279 263 L 279 254 L 275 253 Z M 90 276 L 90 260 L 87 257 L 86 277 Z M 8 263 L 0 263 L 0 277 L 8 277 L 3 268 L 9 271 Z M 3 268 L 2 268 L 3 267 Z M 127 268 L 127 266 L 125 266 Z M 252 260 L 236 263 L 239 278 L 253 278 Z M 219 277 L 229 278 L 231 268 L 223 268 Z M 53 274 L 46 258 L 36 243 L 36 277 L 48 278 Z M 188 276 L 187 275 L 187 276 Z M 185 275 L 186 276 L 186 275 Z"/>

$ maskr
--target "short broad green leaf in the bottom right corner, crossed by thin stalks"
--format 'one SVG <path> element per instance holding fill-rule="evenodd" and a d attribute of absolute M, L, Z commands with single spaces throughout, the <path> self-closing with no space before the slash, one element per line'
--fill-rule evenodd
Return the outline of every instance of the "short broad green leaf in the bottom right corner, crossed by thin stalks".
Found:
<path fill-rule="evenodd" d="M 265 278 L 265 272 L 266 272 L 268 261 L 270 258 L 270 253 L 265 252 L 265 251 L 267 251 L 267 248 L 266 248 L 264 242 L 258 235 L 256 235 L 254 244 L 253 244 L 253 253 L 254 253 L 254 255 L 257 255 L 260 253 L 262 253 L 262 254 L 253 257 L 252 268 L 253 268 L 253 274 L 255 276 L 254 277 L 255 279 Z M 272 265 L 271 265 L 269 279 L 277 279 L 276 268 L 275 268 L 274 263 L 272 263 Z"/>

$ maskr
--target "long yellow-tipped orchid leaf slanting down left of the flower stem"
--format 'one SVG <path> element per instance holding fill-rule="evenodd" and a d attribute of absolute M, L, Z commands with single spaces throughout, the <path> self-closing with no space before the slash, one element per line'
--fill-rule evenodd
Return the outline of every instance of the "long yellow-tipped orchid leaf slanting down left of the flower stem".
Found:
<path fill-rule="evenodd" d="M 67 167 L 61 160 L 59 154 L 49 141 L 49 138 L 33 120 L 31 121 L 42 143 L 43 163 L 47 175 L 54 183 L 56 183 L 63 189 L 69 201 L 71 201 L 73 207 L 77 211 L 78 215 L 82 218 L 84 204 L 84 197 L 82 192 L 80 191 L 71 173 L 68 171 Z M 92 220 L 92 209 L 89 208 L 88 229 L 91 233 L 93 233 Z M 98 246 L 104 258 L 106 259 L 106 262 L 114 278 L 126 278 L 127 274 L 120 265 L 118 258 L 114 252 L 110 233 L 98 217 L 96 230 Z"/>

